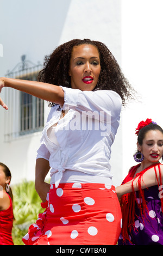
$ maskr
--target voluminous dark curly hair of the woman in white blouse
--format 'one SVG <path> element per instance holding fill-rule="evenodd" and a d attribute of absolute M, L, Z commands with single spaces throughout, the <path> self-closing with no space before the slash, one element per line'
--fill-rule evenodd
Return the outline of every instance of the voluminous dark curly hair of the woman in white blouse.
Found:
<path fill-rule="evenodd" d="M 122 105 L 126 100 L 133 99 L 135 91 L 122 74 L 117 60 L 108 47 L 102 42 L 90 39 L 73 39 L 55 48 L 52 54 L 45 57 L 43 69 L 37 77 L 38 81 L 71 88 L 71 79 L 68 71 L 70 69 L 72 48 L 83 44 L 96 46 L 99 52 L 101 73 L 93 90 L 113 90 L 121 96 Z"/>

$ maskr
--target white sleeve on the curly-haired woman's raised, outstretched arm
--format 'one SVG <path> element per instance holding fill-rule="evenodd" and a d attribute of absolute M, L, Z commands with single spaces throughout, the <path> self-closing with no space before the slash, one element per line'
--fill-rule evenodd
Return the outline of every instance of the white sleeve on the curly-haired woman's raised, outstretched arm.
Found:
<path fill-rule="evenodd" d="M 119 117 L 122 100 L 120 95 L 111 90 L 82 91 L 62 87 L 65 93 L 65 103 L 62 109 L 70 108 L 82 112 L 106 113 L 111 116 L 111 123 Z"/>

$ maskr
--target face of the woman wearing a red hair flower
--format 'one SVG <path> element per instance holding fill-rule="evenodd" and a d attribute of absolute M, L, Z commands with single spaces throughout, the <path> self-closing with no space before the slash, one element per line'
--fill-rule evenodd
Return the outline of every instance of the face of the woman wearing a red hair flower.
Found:
<path fill-rule="evenodd" d="M 158 162 L 163 155 L 163 134 L 159 130 L 146 133 L 143 143 L 137 144 L 137 149 L 144 155 L 143 161 Z"/>

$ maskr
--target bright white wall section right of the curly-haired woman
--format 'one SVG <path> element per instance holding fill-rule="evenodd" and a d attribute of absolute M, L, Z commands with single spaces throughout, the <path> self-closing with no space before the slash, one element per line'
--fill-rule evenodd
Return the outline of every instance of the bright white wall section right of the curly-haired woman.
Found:
<path fill-rule="evenodd" d="M 163 1 L 122 0 L 122 69 L 141 96 L 122 112 L 123 177 L 136 162 L 137 124 L 152 118 L 163 127 Z"/>

